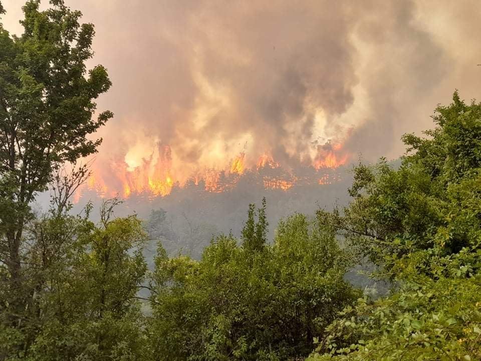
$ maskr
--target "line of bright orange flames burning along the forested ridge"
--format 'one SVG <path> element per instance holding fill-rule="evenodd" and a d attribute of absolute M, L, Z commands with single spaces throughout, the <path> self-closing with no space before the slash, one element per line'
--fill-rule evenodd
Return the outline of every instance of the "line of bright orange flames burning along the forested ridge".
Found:
<path fill-rule="evenodd" d="M 112 162 L 107 176 L 105 169 L 102 171 L 94 163 L 92 175 L 78 190 L 75 199 L 80 200 L 87 191 L 93 191 L 100 197 L 163 197 L 169 195 L 174 187 L 189 185 L 200 187 L 205 192 L 220 193 L 233 189 L 240 179 L 248 177 L 266 190 L 287 191 L 295 185 L 335 182 L 335 168 L 345 164 L 350 156 L 342 144 L 326 143 L 317 147 L 316 156 L 310 164 L 296 168 L 283 167 L 267 153 L 257 157 L 257 161 L 251 159 L 249 162 L 247 154 L 240 152 L 226 161 L 223 169 L 204 168 L 193 174 L 176 174 L 170 146 L 157 144 L 138 165 L 131 166 L 125 160 Z"/>

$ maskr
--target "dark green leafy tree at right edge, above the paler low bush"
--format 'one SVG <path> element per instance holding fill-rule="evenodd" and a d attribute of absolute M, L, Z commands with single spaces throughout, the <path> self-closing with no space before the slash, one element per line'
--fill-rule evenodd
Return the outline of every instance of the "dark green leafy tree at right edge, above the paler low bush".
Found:
<path fill-rule="evenodd" d="M 453 100 L 437 108 L 438 126 L 425 132 L 430 138 L 403 137 L 408 153 L 398 170 L 385 160 L 359 165 L 349 190 L 353 202 L 332 214 L 318 213 L 322 223 L 351 241 L 360 258 L 384 264 L 386 255 L 439 242 L 443 254 L 477 244 L 481 106 L 465 105 L 457 93 Z"/>

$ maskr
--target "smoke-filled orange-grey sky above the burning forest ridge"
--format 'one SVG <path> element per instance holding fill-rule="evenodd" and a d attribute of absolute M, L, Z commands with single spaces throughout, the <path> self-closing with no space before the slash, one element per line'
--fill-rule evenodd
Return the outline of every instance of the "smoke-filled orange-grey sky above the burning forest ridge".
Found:
<path fill-rule="evenodd" d="M 20 4 L 3 1 L 7 29 Z M 221 167 L 239 152 L 309 163 L 344 143 L 399 156 L 459 89 L 481 98 L 478 1 L 66 0 L 96 27 L 91 65 L 113 87 L 99 109 L 97 165 L 133 165 L 156 143 L 173 167 Z"/>

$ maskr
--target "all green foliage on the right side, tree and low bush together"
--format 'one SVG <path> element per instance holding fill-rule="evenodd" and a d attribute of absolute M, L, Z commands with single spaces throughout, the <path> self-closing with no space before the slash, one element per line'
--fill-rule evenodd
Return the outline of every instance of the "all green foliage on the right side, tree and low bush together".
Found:
<path fill-rule="evenodd" d="M 398 170 L 360 165 L 351 205 L 318 214 L 397 287 L 341 312 L 310 359 L 481 359 L 481 105 L 455 93 L 433 119 Z"/>

